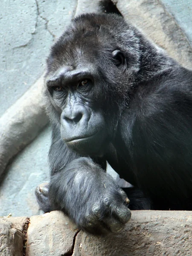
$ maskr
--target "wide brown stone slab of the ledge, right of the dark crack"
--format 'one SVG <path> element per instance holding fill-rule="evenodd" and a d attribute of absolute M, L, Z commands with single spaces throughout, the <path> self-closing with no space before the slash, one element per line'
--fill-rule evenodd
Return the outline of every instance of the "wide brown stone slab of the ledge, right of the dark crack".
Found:
<path fill-rule="evenodd" d="M 80 231 L 73 256 L 191 256 L 192 213 L 132 211 L 125 229 L 109 236 Z"/>

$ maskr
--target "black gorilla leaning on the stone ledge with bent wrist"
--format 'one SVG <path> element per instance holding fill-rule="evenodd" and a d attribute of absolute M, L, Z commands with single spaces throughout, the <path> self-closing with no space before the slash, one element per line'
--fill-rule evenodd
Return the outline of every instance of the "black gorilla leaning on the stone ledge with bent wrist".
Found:
<path fill-rule="evenodd" d="M 76 17 L 47 58 L 45 98 L 44 212 L 99 234 L 121 230 L 130 209 L 192 210 L 192 71 L 139 29 L 116 14 Z"/>

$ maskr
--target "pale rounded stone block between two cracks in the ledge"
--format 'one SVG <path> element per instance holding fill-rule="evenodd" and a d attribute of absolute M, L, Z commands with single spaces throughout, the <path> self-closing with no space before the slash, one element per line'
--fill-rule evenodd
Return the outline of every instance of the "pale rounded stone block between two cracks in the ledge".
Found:
<path fill-rule="evenodd" d="M 26 256 L 72 255 L 79 230 L 62 212 L 54 211 L 30 218 Z"/>

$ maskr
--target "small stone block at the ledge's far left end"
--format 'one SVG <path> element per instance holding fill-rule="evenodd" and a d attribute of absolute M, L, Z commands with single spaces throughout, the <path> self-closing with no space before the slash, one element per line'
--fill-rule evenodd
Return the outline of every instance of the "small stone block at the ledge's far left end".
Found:
<path fill-rule="evenodd" d="M 27 218 L 0 218 L 0 255 L 23 256 Z"/>

